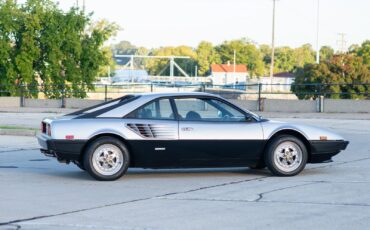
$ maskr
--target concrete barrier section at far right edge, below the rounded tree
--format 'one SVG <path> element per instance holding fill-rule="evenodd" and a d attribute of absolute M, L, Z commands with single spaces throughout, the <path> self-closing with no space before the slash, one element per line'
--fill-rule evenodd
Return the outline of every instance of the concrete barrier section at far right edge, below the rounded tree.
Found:
<path fill-rule="evenodd" d="M 370 100 L 325 99 L 324 112 L 327 113 L 370 113 Z"/>

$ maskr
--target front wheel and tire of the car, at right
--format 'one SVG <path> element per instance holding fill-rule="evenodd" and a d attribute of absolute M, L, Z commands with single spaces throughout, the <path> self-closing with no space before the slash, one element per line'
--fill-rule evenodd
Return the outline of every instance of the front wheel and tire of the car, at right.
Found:
<path fill-rule="evenodd" d="M 265 152 L 266 166 L 275 176 L 297 175 L 305 168 L 307 158 L 304 143 L 290 135 L 272 139 Z"/>

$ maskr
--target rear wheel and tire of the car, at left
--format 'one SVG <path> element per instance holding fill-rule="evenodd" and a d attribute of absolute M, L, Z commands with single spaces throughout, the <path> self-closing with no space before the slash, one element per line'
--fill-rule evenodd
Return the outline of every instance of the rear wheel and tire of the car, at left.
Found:
<path fill-rule="evenodd" d="M 96 180 L 111 181 L 126 173 L 130 155 L 117 138 L 100 137 L 86 148 L 83 163 L 86 171 Z"/>

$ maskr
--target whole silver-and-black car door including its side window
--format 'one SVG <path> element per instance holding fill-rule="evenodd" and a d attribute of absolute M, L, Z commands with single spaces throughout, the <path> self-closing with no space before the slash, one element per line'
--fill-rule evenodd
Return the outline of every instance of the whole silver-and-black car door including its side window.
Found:
<path fill-rule="evenodd" d="M 213 97 L 176 98 L 181 158 L 209 165 L 246 165 L 264 145 L 260 123 L 237 107 Z"/>

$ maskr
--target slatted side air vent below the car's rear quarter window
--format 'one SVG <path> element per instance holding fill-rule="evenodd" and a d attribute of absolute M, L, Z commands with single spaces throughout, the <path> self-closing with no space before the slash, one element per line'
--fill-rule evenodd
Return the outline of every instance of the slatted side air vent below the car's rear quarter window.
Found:
<path fill-rule="evenodd" d="M 146 138 L 174 138 L 174 129 L 166 125 L 155 125 L 155 124 L 127 124 L 135 133 Z"/>

